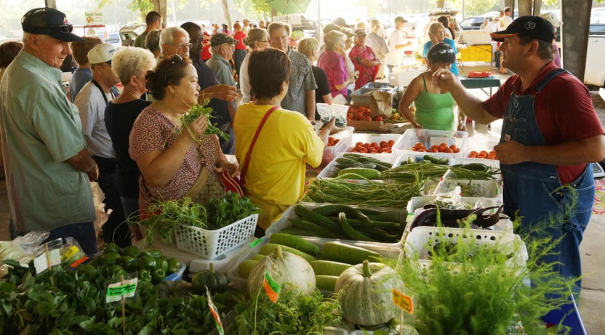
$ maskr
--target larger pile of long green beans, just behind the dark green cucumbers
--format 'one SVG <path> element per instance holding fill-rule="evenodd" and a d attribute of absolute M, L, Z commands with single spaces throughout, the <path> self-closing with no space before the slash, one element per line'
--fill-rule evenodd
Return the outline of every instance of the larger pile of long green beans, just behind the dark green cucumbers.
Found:
<path fill-rule="evenodd" d="M 342 179 L 315 179 L 302 199 L 306 202 L 336 203 L 391 208 L 405 208 L 420 195 L 424 182 L 416 177 L 409 183 L 351 183 Z"/>

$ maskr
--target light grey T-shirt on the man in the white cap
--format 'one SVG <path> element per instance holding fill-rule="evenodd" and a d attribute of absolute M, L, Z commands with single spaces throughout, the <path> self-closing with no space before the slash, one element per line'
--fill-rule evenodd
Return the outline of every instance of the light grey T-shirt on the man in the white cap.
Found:
<path fill-rule="evenodd" d="M 105 94 L 107 101 L 113 99 L 111 93 L 103 94 Z M 90 81 L 77 94 L 74 104 L 76 104 L 80 113 L 82 130 L 90 155 L 116 158 L 110 134 L 107 132 L 107 127 L 105 127 L 106 103 L 101 91 Z"/>

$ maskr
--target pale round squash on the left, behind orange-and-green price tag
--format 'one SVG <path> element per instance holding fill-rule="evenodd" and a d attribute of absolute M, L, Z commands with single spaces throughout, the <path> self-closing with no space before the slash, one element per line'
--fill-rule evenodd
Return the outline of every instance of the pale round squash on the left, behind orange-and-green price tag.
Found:
<path fill-rule="evenodd" d="M 269 271 L 271 278 L 281 284 L 283 289 L 296 288 L 306 295 L 315 290 L 315 272 L 309 263 L 299 255 L 282 252 L 281 246 L 276 246 L 272 254 L 259 261 L 250 271 L 250 296 L 256 296 L 263 286 L 265 271 Z"/>

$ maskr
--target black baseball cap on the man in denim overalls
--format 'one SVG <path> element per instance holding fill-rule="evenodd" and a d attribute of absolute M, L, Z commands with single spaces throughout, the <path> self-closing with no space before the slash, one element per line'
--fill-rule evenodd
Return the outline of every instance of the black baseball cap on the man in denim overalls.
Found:
<path fill-rule="evenodd" d="M 517 35 L 528 36 L 545 42 L 552 42 L 555 37 L 551 22 L 540 18 L 540 16 L 532 15 L 520 16 L 512 21 L 506 30 L 489 34 L 496 42 L 502 42 L 506 37 Z"/>

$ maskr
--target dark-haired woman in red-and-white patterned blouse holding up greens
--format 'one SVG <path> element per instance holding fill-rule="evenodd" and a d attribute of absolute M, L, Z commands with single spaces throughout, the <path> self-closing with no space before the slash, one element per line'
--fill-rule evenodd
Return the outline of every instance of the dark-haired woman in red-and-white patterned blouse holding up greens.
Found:
<path fill-rule="evenodd" d="M 197 103 L 200 86 L 189 59 L 172 56 L 146 75 L 154 102 L 143 109 L 129 137 L 128 152 L 141 171 L 139 209 L 153 200 L 189 196 L 204 203 L 224 195 L 218 174 L 237 172 L 227 161 L 216 135 L 203 135 L 208 120 L 201 116 L 180 131 L 180 117 Z"/>

